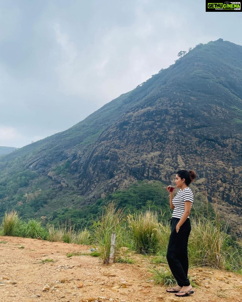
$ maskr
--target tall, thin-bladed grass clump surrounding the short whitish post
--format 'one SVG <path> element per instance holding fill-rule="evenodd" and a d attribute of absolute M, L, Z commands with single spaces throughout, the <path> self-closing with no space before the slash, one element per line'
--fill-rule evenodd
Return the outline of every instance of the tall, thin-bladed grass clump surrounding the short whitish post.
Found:
<path fill-rule="evenodd" d="M 101 220 L 93 225 L 94 244 L 99 247 L 99 257 L 103 263 L 109 263 L 112 233 L 116 234 L 114 261 L 117 258 L 118 248 L 120 247 L 121 238 L 123 237 L 121 221 L 121 210 L 116 211 L 114 204 L 110 203 L 108 207 L 104 207 Z"/>

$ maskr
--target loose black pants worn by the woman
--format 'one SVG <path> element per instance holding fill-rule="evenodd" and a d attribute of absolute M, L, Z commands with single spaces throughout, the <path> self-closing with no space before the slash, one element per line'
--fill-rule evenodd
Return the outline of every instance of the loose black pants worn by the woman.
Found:
<path fill-rule="evenodd" d="M 170 270 L 175 277 L 179 286 L 188 286 L 190 281 L 187 278 L 188 273 L 188 255 L 187 244 L 188 237 L 191 232 L 190 219 L 182 224 L 178 233 L 176 233 L 176 225 L 180 218 L 172 218 L 171 234 L 167 248 L 166 259 Z"/>

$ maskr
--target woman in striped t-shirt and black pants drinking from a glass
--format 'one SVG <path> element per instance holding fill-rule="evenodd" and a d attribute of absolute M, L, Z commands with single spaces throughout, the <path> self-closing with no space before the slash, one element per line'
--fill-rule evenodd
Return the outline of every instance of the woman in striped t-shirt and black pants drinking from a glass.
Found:
<path fill-rule="evenodd" d="M 178 171 L 175 184 L 180 190 L 175 197 L 173 192 L 169 195 L 170 207 L 173 210 L 173 214 L 166 258 L 170 270 L 177 281 L 177 286 L 169 288 L 166 291 L 168 293 L 176 293 L 175 295 L 178 297 L 186 297 L 193 294 L 192 286 L 187 278 L 187 244 L 191 232 L 189 214 L 193 203 L 193 193 L 188 186 L 195 179 L 196 174 L 194 171 Z M 167 191 L 169 191 L 169 187 L 166 188 Z"/>

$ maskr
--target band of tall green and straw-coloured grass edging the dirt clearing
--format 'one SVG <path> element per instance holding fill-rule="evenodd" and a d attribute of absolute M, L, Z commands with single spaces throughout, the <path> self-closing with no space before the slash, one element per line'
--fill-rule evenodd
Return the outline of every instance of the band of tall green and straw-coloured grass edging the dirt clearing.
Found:
<path fill-rule="evenodd" d="M 207 214 L 195 214 L 191 217 L 192 231 L 189 237 L 188 253 L 189 262 L 192 266 L 208 266 L 228 271 L 235 271 L 242 274 L 242 245 L 234 241 L 233 236 L 227 234 L 228 223 L 221 221 L 219 216 Z M 172 278 L 169 273 L 158 267 L 159 264 L 167 267 L 166 250 L 170 235 L 170 224 L 168 220 L 159 222 L 157 212 L 146 210 L 144 212 L 124 215 L 122 210 L 115 209 L 114 203 L 104 207 L 102 217 L 98 222 L 93 222 L 92 227 L 77 232 L 71 221 L 56 228 L 48 225 L 46 238 L 50 241 L 67 238 L 68 232 L 73 237 L 72 242 L 88 242 L 92 246 L 98 246 L 98 251 L 91 253 L 72 252 L 67 257 L 74 255 L 91 255 L 99 257 L 103 263 L 109 263 L 111 234 L 116 234 L 115 241 L 115 262 L 133 263 L 130 255 L 125 254 L 129 246 L 135 252 L 145 255 L 153 253 L 150 263 L 157 267 L 151 268 L 157 284 L 172 285 Z M 161 217 L 163 217 L 161 215 Z M 19 236 L 33 236 L 36 238 L 44 227 L 35 220 L 25 223 L 19 219 L 16 211 L 6 212 L 2 222 L 2 233 Z M 21 233 L 22 232 L 22 233 Z M 70 238 L 70 237 L 68 237 Z M 82 238 L 82 240 L 80 239 Z M 2 241 L 1 243 L 6 243 Z M 125 248 L 126 246 L 126 248 Z M 121 249 L 122 247 L 122 249 Z M 19 248 L 24 248 L 20 246 Z M 122 254 L 123 253 L 123 254 Z M 43 262 L 51 260 L 44 259 Z"/>

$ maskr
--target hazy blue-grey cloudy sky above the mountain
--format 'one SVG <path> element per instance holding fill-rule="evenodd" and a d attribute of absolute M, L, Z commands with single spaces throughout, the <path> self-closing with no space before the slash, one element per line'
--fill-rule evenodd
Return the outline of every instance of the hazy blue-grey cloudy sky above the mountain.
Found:
<path fill-rule="evenodd" d="M 0 146 L 72 127 L 180 50 L 242 45 L 241 17 L 201 0 L 0 0 Z"/>

